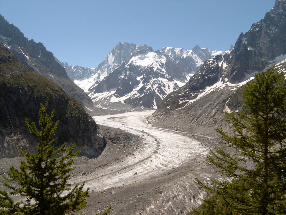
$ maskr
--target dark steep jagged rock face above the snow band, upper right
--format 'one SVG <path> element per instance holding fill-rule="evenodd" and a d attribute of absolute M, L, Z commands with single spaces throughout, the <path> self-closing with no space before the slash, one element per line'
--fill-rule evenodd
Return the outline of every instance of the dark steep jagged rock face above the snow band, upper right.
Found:
<path fill-rule="evenodd" d="M 248 75 L 265 68 L 265 61 L 272 62 L 286 54 L 286 2 L 277 0 L 273 9 L 245 34 L 241 33 L 235 47 L 225 55 L 221 76 L 231 83 L 239 83 Z"/>

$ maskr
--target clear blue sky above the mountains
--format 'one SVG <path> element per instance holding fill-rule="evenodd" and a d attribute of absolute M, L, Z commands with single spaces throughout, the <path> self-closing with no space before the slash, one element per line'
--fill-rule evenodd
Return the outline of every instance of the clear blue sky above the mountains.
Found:
<path fill-rule="evenodd" d="M 95 68 L 118 42 L 228 50 L 275 0 L 1 0 L 0 14 L 60 61 Z"/>

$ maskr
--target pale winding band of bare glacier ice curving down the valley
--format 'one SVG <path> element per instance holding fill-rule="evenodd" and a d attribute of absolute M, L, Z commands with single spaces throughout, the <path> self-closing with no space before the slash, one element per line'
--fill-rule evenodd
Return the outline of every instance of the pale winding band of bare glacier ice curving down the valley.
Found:
<path fill-rule="evenodd" d="M 123 164 L 105 169 L 97 180 L 87 180 L 86 186 L 92 189 L 107 189 L 132 183 L 150 175 L 164 174 L 176 169 L 189 159 L 205 159 L 208 148 L 182 132 L 151 127 L 146 118 L 154 111 L 135 111 L 124 114 L 93 117 L 98 124 L 120 128 L 143 138 L 144 144 L 127 157 Z M 120 171 L 124 169 L 124 171 Z M 140 177 L 139 177 L 140 176 Z"/>

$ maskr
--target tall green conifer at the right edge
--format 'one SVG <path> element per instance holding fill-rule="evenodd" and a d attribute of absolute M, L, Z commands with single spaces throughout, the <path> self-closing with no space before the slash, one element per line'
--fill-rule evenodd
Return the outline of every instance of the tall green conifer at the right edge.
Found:
<path fill-rule="evenodd" d="M 259 72 L 244 86 L 243 112 L 226 113 L 232 132 L 218 129 L 224 148 L 207 162 L 229 180 L 197 183 L 213 195 L 203 214 L 286 214 L 286 87 L 274 67 Z"/>

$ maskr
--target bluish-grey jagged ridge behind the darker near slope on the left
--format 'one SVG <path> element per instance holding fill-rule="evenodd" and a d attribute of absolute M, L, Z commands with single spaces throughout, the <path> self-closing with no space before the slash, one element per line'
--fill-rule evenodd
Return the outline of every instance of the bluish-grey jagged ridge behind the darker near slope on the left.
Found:
<path fill-rule="evenodd" d="M 28 40 L 17 27 L 9 24 L 1 15 L 0 43 L 32 71 L 50 79 L 81 103 L 92 106 L 88 95 L 69 79 L 65 69 L 56 62 L 53 53 L 47 51 L 42 43 L 36 43 L 33 39 Z"/>

